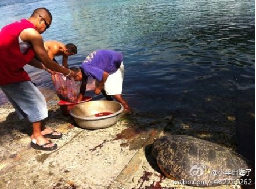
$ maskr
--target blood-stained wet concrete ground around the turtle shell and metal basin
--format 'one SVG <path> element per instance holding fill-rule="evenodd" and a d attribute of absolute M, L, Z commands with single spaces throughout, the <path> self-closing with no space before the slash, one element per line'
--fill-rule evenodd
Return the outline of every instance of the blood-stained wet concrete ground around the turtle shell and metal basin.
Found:
<path fill-rule="evenodd" d="M 45 123 L 63 138 L 54 140 L 59 148 L 51 152 L 32 149 L 30 123 L 19 120 L 11 105 L 0 107 L 0 188 L 196 188 L 175 185 L 163 175 L 150 152 L 154 139 L 188 134 L 236 150 L 235 127 L 219 130 L 172 115 L 135 113 L 109 128 L 86 130 L 63 116 L 56 102 L 48 101 Z"/>

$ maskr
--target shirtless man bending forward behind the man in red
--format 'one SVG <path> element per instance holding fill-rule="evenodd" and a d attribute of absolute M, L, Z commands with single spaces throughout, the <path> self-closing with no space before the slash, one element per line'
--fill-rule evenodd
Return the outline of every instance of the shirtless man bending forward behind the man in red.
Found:
<path fill-rule="evenodd" d="M 68 68 L 67 59 L 69 56 L 77 54 L 77 47 L 73 43 L 64 44 L 55 40 L 48 40 L 44 42 L 45 50 L 47 51 L 51 60 L 55 60 L 55 56 L 62 55 L 62 65 Z"/>

